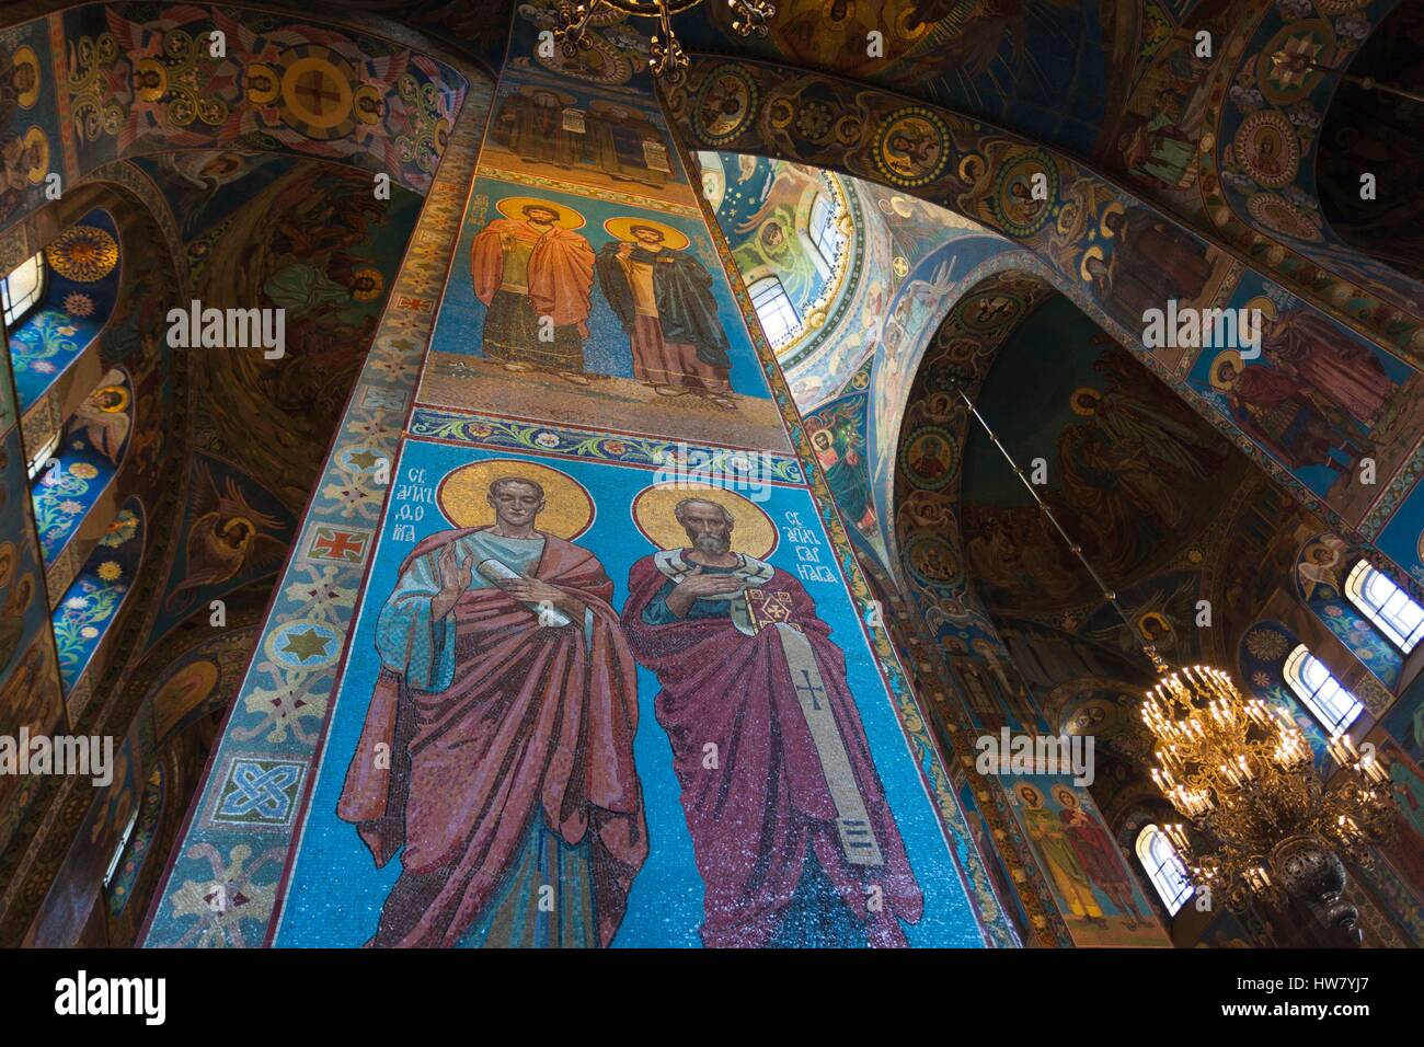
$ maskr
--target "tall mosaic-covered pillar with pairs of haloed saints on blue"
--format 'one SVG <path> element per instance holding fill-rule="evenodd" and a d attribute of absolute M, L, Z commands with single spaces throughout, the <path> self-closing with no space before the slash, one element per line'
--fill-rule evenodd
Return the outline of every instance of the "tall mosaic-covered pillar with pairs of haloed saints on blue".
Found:
<path fill-rule="evenodd" d="M 473 178 L 456 128 L 148 944 L 1014 944 L 646 41 L 543 27 Z"/>

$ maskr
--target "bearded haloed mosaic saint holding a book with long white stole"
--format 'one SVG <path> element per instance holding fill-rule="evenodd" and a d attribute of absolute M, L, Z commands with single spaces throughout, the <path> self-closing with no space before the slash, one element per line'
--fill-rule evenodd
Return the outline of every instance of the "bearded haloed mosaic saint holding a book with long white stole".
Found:
<path fill-rule="evenodd" d="M 802 584 L 759 558 L 770 520 L 722 490 L 654 487 L 622 623 L 705 885 L 706 946 L 904 946 L 923 896 L 846 661 Z"/>

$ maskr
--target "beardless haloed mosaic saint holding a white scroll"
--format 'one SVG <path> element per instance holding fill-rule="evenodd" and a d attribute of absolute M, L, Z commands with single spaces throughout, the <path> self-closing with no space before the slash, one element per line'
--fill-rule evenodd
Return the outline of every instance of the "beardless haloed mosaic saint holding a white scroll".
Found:
<path fill-rule="evenodd" d="M 337 806 L 377 866 L 400 850 L 369 944 L 607 946 L 648 832 L 634 657 L 572 541 L 592 501 L 511 460 L 454 470 L 439 497 L 460 526 L 416 546 L 380 611 Z"/>

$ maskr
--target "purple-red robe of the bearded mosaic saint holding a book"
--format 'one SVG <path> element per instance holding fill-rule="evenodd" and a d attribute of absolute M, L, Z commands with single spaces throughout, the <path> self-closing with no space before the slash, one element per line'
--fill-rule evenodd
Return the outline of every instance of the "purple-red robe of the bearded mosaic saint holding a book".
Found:
<path fill-rule="evenodd" d="M 816 604 L 782 570 L 762 587 L 790 594 L 790 621 L 810 642 L 883 866 L 846 860 L 836 805 L 776 630 L 749 637 L 731 618 L 651 625 L 644 621 L 644 608 L 666 581 L 652 557 L 634 564 L 622 621 L 638 661 L 662 684 L 654 708 L 672 744 L 682 809 L 705 885 L 703 943 L 765 946 L 782 923 L 812 850 L 846 909 L 869 924 L 870 943 L 906 944 L 897 917 L 918 922 L 924 899 L 846 685 L 844 655 L 816 617 Z M 702 765 L 708 742 L 716 744 L 716 769 Z M 873 886 L 884 896 L 879 912 L 867 906 Z"/>

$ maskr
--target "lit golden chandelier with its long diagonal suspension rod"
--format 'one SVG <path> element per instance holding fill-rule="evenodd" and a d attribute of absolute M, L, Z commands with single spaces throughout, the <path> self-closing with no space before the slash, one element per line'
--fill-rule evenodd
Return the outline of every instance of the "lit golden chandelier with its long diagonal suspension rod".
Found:
<path fill-rule="evenodd" d="M 1388 773 L 1346 734 L 1330 739 L 1340 772 L 1323 781 L 1304 734 L 1280 705 L 1245 698 L 1230 675 L 1209 665 L 1173 671 L 1124 613 L 1114 593 L 1040 497 L 978 407 L 954 386 L 970 415 L 1007 459 L 1038 510 L 1068 544 L 1159 679 L 1142 702 L 1153 738 L 1152 781 L 1195 832 L 1163 832 L 1193 883 L 1232 909 L 1253 899 L 1302 905 L 1333 932 L 1358 942 L 1358 912 L 1343 902 L 1346 868 L 1374 863 L 1373 848 L 1394 838 Z M 1368 746 L 1367 746 L 1368 748 Z"/>

